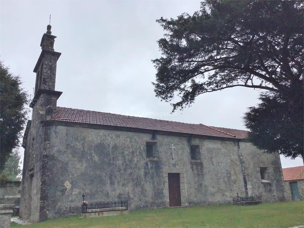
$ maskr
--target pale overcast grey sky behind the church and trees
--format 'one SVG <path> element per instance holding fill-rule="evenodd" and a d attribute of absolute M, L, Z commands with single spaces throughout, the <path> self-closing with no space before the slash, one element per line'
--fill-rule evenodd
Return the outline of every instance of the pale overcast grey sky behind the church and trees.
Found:
<path fill-rule="evenodd" d="M 165 33 L 155 20 L 192 14 L 199 6 L 199 1 L 1 1 L 0 58 L 32 93 L 51 14 L 54 49 L 62 53 L 58 106 L 245 129 L 243 113 L 258 103 L 261 91 L 212 92 L 182 112 L 152 116 L 172 110 L 155 97 L 151 84 L 156 73 L 151 59 L 160 57 L 156 41 Z M 301 158 L 281 161 L 283 168 L 303 165 Z"/>

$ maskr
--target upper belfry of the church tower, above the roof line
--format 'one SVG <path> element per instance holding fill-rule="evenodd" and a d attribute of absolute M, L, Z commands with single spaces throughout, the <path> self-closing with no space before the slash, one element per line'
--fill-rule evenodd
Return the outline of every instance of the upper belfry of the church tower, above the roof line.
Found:
<path fill-rule="evenodd" d="M 36 73 L 35 95 L 30 104 L 34 108 L 39 100 L 39 106 L 47 108 L 56 107 L 57 99 L 62 92 L 55 91 L 57 60 L 61 53 L 54 51 L 54 42 L 57 36 L 51 35 L 51 26 L 47 26 L 47 32 L 43 34 L 40 47 L 41 54 L 34 68 Z"/>

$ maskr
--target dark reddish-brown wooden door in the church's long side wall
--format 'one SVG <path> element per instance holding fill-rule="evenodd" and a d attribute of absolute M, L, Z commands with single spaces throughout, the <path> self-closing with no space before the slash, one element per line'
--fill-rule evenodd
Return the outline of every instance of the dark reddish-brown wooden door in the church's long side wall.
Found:
<path fill-rule="evenodd" d="M 170 207 L 181 206 L 181 187 L 179 173 L 168 173 L 169 203 Z"/>

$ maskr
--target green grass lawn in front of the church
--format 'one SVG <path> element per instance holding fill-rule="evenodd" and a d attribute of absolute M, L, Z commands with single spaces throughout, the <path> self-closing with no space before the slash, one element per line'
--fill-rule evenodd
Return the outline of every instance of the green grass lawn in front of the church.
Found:
<path fill-rule="evenodd" d="M 195 206 L 130 211 L 99 218 L 79 216 L 11 227 L 291 227 L 303 225 L 304 203 L 263 203 L 254 206 Z"/>

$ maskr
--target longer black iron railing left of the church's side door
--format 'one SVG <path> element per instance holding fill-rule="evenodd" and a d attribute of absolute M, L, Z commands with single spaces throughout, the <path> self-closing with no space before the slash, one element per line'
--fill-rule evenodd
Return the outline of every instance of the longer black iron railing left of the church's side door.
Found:
<path fill-rule="evenodd" d="M 81 205 L 81 213 L 125 211 L 128 210 L 128 200 L 86 202 Z"/>

